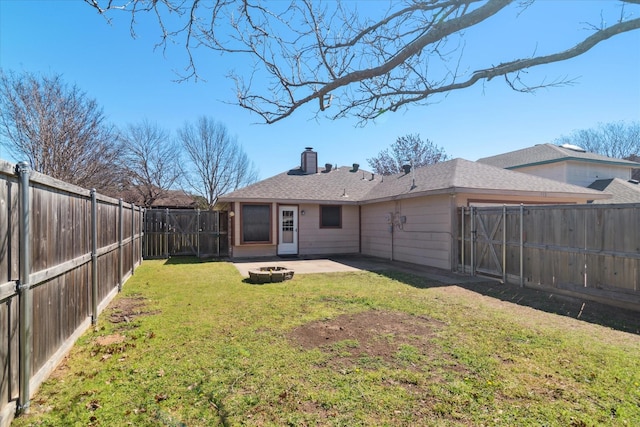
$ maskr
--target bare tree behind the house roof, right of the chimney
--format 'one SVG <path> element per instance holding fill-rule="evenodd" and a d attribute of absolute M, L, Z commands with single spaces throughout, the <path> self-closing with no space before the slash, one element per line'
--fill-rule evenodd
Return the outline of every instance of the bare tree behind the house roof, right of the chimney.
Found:
<path fill-rule="evenodd" d="M 389 151 L 391 150 L 391 151 Z M 373 171 L 380 175 L 391 175 L 402 171 L 402 166 L 431 165 L 447 160 L 442 147 L 430 140 L 423 141 L 420 135 L 406 135 L 396 139 L 390 148 L 384 149 L 376 157 L 367 159 Z"/>

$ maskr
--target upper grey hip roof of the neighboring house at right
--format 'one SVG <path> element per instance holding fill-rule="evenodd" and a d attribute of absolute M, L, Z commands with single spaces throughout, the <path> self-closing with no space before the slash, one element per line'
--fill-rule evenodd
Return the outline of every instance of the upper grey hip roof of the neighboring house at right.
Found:
<path fill-rule="evenodd" d="M 478 163 L 497 166 L 503 169 L 516 169 L 569 160 L 640 168 L 640 163 L 607 157 L 596 153 L 577 151 L 554 144 L 539 144 L 497 156 L 484 157 L 478 159 Z"/>

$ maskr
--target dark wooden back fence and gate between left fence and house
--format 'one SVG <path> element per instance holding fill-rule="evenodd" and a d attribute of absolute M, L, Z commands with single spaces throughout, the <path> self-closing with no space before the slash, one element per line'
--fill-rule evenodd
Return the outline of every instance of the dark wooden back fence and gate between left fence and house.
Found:
<path fill-rule="evenodd" d="M 143 257 L 227 256 L 227 218 L 227 212 L 223 211 L 146 210 Z"/>

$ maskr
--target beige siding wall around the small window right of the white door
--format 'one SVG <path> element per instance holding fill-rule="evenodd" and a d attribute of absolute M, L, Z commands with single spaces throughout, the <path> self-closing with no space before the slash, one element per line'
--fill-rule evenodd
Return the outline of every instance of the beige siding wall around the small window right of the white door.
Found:
<path fill-rule="evenodd" d="M 304 215 L 302 212 L 304 211 Z M 342 206 L 342 228 L 320 228 L 320 205 L 298 208 L 298 254 L 331 255 L 360 252 L 359 208 Z"/>

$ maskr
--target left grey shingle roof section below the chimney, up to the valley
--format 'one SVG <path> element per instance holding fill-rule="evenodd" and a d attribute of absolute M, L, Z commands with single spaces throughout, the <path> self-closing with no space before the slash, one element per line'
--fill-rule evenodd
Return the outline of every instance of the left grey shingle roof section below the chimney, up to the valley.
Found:
<path fill-rule="evenodd" d="M 373 177 L 373 180 L 371 179 Z M 272 176 L 255 184 L 224 194 L 219 201 L 264 200 L 288 203 L 357 203 L 379 182 L 371 172 L 348 166 L 304 174 L 300 169 Z"/>

